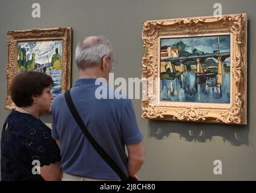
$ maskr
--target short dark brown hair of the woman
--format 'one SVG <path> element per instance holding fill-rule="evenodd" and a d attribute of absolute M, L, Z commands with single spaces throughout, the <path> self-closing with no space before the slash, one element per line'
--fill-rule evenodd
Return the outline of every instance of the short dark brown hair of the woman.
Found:
<path fill-rule="evenodd" d="M 53 86 L 53 80 L 43 72 L 21 72 L 11 83 L 11 100 L 17 107 L 28 107 L 33 103 L 32 96 L 40 96 L 46 87 Z"/>

